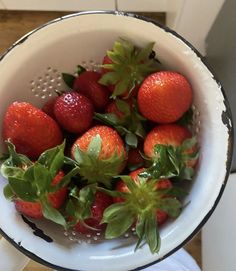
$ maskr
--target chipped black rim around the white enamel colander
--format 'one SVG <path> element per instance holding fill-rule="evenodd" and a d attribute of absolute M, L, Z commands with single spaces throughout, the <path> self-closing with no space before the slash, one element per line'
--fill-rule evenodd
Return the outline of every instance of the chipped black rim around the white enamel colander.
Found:
<path fill-rule="evenodd" d="M 180 36 L 178 33 L 176 33 L 175 31 L 173 31 L 172 29 L 162 25 L 161 23 L 155 21 L 154 19 L 151 18 L 147 18 L 141 15 L 137 15 L 137 14 L 133 14 L 133 13 L 127 13 L 127 12 L 121 12 L 121 11 L 84 11 L 84 12 L 78 12 L 78 13 L 74 13 L 74 14 L 70 14 L 70 15 L 66 15 L 63 17 L 60 17 L 58 19 L 49 21 L 46 24 L 43 24 L 42 26 L 34 29 L 33 31 L 29 32 L 28 34 L 26 34 L 25 36 L 23 36 L 21 39 L 19 39 L 17 42 L 15 42 L 9 49 L 7 49 L 1 56 L 0 56 L 0 61 L 11 51 L 13 50 L 15 47 L 17 47 L 18 45 L 24 43 L 24 41 L 27 40 L 28 37 L 30 37 L 32 34 L 34 34 L 35 32 L 39 31 L 42 28 L 45 28 L 51 24 L 54 24 L 58 21 L 61 20 L 66 20 L 69 19 L 71 17 L 77 17 L 77 16 L 81 16 L 81 15 L 91 15 L 91 14 L 113 14 L 113 15 L 118 15 L 118 16 L 128 16 L 128 17 L 133 17 L 139 20 L 143 20 L 149 23 L 152 23 L 162 29 L 164 29 L 166 32 L 169 32 L 171 34 L 173 34 L 175 37 L 179 38 L 180 40 L 182 40 L 188 47 L 190 47 L 195 53 L 196 55 L 201 59 L 201 61 L 204 63 L 204 65 L 208 68 L 209 71 L 211 71 L 212 74 L 214 74 L 212 72 L 212 68 L 209 66 L 209 63 L 207 63 L 206 59 L 198 52 L 198 50 L 192 45 L 190 44 L 187 40 L 185 40 L 182 36 Z M 146 265 L 142 265 L 140 267 L 137 267 L 135 269 L 132 269 L 133 271 L 135 270 L 142 270 L 143 268 L 147 268 L 148 266 L 151 266 L 155 263 L 158 263 L 159 261 L 167 258 L 168 256 L 170 256 L 171 254 L 173 254 L 174 252 L 176 252 L 177 250 L 179 250 L 181 247 L 183 247 L 188 241 L 190 241 L 202 228 L 202 226 L 206 223 L 206 221 L 209 219 L 209 217 L 211 216 L 211 214 L 213 213 L 213 211 L 215 210 L 222 194 L 223 191 L 225 189 L 225 185 L 227 183 L 229 174 L 230 174 L 230 168 L 231 168 L 231 162 L 232 162 L 232 154 L 233 154 L 233 135 L 234 135 L 234 131 L 233 131 L 233 122 L 232 122 L 232 113 L 229 107 L 229 103 L 227 101 L 226 95 L 225 95 L 225 91 L 223 89 L 223 87 L 221 86 L 221 83 L 219 82 L 219 80 L 214 76 L 213 79 L 217 82 L 217 84 L 219 85 L 219 87 L 221 88 L 222 94 L 224 96 L 224 104 L 225 104 L 225 111 L 223 112 L 222 115 L 222 121 L 223 123 L 226 125 L 227 129 L 228 129 L 228 134 L 229 134 L 229 140 L 228 140 L 228 157 L 227 157 L 227 162 L 226 162 L 226 175 L 225 175 L 225 179 L 222 183 L 220 192 L 212 206 L 212 208 L 209 210 L 209 212 L 205 215 L 204 219 L 199 223 L 199 225 L 195 228 L 195 230 L 193 230 L 193 232 L 184 240 L 182 241 L 182 243 L 180 243 L 177 247 L 175 247 L 174 249 L 172 249 L 170 252 L 168 252 L 165 256 L 163 256 L 161 259 L 158 259 L 156 261 L 153 261 L 149 264 Z M 34 261 L 43 264 L 45 266 L 48 266 L 50 268 L 56 269 L 56 270 L 61 270 L 61 271 L 79 271 L 77 269 L 68 269 L 68 268 L 64 268 L 61 266 L 57 266 L 55 264 L 52 264 L 50 262 L 47 262 L 45 260 L 43 260 L 42 258 L 40 258 L 39 256 L 35 255 L 34 253 L 32 253 L 31 251 L 25 249 L 24 247 L 22 247 L 20 244 L 16 243 L 13 239 L 11 239 L 2 229 L 0 229 L 0 233 L 1 235 L 8 240 L 14 247 L 16 247 L 19 251 L 21 251 L 23 254 L 25 254 L 26 256 L 28 256 L 29 258 L 33 259 Z M 82 270 L 81 270 L 82 271 Z M 131 270 L 130 270 L 131 271 Z"/>

